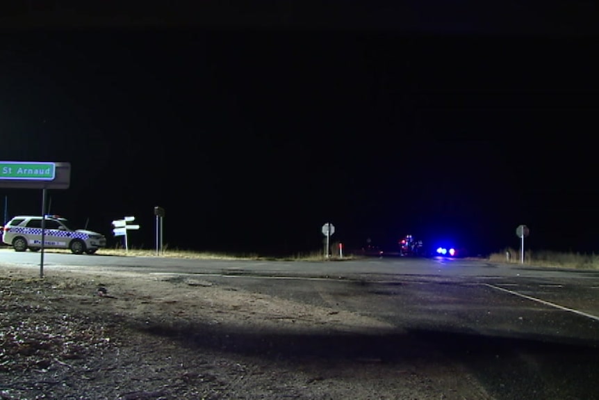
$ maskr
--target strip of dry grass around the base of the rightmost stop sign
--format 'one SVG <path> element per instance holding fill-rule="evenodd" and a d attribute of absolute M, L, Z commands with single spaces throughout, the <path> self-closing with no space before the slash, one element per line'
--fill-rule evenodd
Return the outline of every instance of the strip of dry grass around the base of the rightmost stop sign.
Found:
<path fill-rule="evenodd" d="M 509 260 L 507 254 L 510 254 Z M 506 248 L 489 256 L 491 262 L 520 264 L 520 250 Z M 599 255 L 594 253 L 559 253 L 550 250 L 525 250 L 524 263 L 531 266 L 548 266 L 566 269 L 599 269 Z"/>

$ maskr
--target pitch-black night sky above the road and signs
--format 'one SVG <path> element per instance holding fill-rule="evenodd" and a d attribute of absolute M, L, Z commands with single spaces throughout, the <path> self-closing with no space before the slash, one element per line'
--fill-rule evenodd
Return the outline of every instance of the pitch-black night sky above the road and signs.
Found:
<path fill-rule="evenodd" d="M 159 205 L 170 248 L 599 250 L 596 35 L 200 25 L 4 31 L 0 159 L 70 162 L 50 212 L 110 246 Z"/>

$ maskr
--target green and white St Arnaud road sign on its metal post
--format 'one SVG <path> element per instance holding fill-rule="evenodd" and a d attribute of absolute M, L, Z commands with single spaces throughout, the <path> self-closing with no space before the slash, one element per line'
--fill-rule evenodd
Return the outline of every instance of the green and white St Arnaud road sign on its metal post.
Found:
<path fill-rule="evenodd" d="M 40 278 L 44 278 L 46 191 L 47 189 L 69 189 L 70 184 L 71 163 L 0 161 L 0 189 L 42 189 Z"/>

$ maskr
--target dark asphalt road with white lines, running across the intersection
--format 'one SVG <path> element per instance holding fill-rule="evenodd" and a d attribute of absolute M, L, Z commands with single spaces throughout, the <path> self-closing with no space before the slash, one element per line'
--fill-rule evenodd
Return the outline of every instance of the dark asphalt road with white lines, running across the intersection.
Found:
<path fill-rule="evenodd" d="M 0 262 L 37 275 L 40 255 L 0 250 Z M 297 348 L 380 362 L 429 353 L 438 360 L 442 354 L 475 371 L 495 399 L 599 398 L 597 271 L 441 258 L 247 262 L 45 255 L 45 274 L 61 266 L 199 274 L 219 285 L 359 312 L 397 327 L 332 342 L 302 338 L 297 346 L 287 337 L 282 347 L 291 353 Z"/>

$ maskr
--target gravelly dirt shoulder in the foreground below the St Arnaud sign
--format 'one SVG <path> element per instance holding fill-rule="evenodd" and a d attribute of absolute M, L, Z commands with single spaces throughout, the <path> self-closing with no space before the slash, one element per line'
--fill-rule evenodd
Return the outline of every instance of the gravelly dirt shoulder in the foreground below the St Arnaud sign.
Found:
<path fill-rule="evenodd" d="M 0 265 L 0 399 L 489 398 L 459 365 L 327 351 L 394 329 L 354 312 L 187 275 L 38 276 Z"/>

